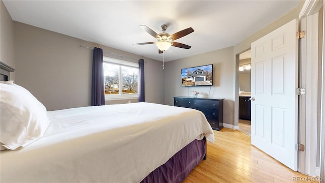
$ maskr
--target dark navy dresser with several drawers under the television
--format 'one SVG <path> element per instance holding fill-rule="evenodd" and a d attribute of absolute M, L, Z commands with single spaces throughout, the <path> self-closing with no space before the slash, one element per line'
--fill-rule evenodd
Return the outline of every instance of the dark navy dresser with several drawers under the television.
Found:
<path fill-rule="evenodd" d="M 200 110 L 213 130 L 223 128 L 223 100 L 215 98 L 174 97 L 174 106 Z"/>

